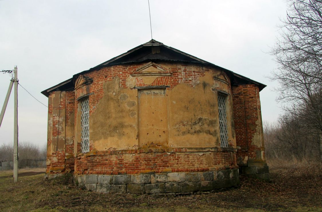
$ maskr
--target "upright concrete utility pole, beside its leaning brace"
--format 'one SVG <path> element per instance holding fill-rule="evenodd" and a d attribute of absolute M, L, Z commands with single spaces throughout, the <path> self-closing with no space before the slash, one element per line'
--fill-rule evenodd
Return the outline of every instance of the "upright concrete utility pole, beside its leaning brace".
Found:
<path fill-rule="evenodd" d="M 14 182 L 18 182 L 18 69 L 14 67 Z"/>

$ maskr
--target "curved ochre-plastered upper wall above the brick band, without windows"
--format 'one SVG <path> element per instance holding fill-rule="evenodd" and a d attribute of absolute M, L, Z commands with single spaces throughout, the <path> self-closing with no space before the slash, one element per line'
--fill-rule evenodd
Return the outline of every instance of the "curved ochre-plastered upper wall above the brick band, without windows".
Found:
<path fill-rule="evenodd" d="M 112 66 L 87 73 L 85 76 L 92 83 L 76 89 L 75 99 L 90 94 L 93 149 L 136 149 L 140 143 L 142 148 L 220 146 L 217 90 L 227 93 L 228 137 L 230 146 L 235 145 L 230 82 L 223 73 L 191 65 L 152 64 L 140 70 L 142 66 L 146 64 Z M 156 90 L 163 93 L 162 98 L 160 95 L 147 97 L 146 93 L 156 93 Z M 78 104 L 76 101 L 75 105 Z M 158 111 L 149 111 L 153 105 L 162 106 Z M 79 108 L 79 105 L 75 108 L 78 144 L 81 142 Z M 140 110 L 144 112 L 139 114 Z M 138 129 L 143 122 L 146 125 L 150 122 L 151 126 Z M 147 128 L 163 130 L 149 133 Z M 140 130 L 145 130 L 144 135 Z"/>

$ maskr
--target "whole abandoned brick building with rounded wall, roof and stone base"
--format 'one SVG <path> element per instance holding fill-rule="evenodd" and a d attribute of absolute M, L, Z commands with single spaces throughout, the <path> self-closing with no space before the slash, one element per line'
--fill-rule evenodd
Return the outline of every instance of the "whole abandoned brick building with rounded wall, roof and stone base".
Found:
<path fill-rule="evenodd" d="M 45 177 L 147 194 L 232 187 L 241 172 L 268 179 L 265 86 L 150 40 L 42 92 Z"/>

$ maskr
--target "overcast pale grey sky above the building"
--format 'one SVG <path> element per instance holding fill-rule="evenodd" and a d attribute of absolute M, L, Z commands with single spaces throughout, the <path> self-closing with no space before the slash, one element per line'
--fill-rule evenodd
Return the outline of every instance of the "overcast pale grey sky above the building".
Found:
<path fill-rule="evenodd" d="M 274 121 L 276 83 L 264 76 L 276 64 L 265 52 L 286 8 L 280 0 L 150 0 L 153 39 L 266 84 L 262 118 Z M 151 40 L 147 0 L 2 0 L 0 30 L 0 70 L 17 65 L 19 83 L 46 105 L 41 91 Z M 1 107 L 9 83 L 1 74 Z M 44 145 L 47 108 L 18 89 L 19 142 Z M 0 145 L 13 143 L 13 95 Z"/>

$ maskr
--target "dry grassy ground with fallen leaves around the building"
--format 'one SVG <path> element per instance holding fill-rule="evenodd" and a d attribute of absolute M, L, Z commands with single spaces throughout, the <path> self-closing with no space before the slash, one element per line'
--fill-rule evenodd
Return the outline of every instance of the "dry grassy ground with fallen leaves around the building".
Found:
<path fill-rule="evenodd" d="M 174 198 L 87 192 L 41 169 L 0 172 L 0 211 L 322 211 L 321 163 L 270 163 L 270 181 L 241 176 L 239 187 Z"/>

